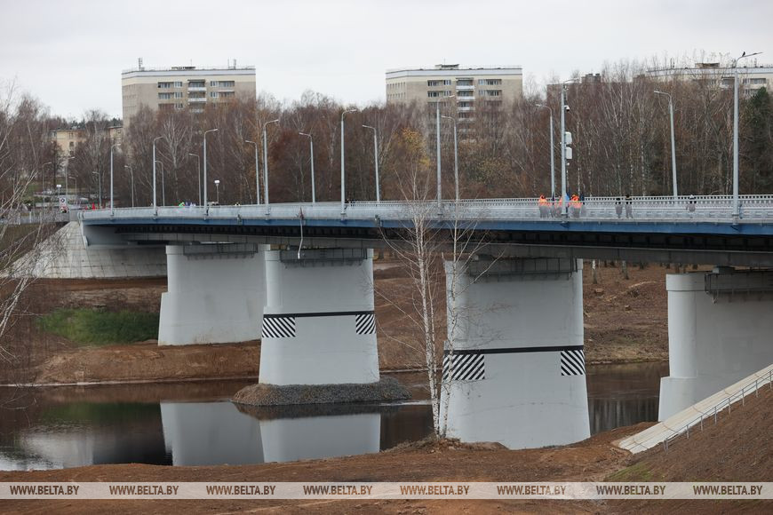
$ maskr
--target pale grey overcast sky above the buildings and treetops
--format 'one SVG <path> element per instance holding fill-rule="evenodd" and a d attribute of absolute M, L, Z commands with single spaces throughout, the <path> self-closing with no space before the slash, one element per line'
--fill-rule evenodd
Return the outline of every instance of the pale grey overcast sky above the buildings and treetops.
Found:
<path fill-rule="evenodd" d="M 258 91 L 385 98 L 387 68 L 521 65 L 538 83 L 605 61 L 765 52 L 771 0 L 0 0 L 0 82 L 80 117 L 121 115 L 121 70 L 254 65 Z"/>

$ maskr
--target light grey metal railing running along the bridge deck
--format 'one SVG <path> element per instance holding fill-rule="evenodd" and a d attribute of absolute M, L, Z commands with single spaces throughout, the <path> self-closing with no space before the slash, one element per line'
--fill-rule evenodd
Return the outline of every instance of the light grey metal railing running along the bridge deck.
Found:
<path fill-rule="evenodd" d="M 280 203 L 266 205 L 120 208 L 111 216 L 110 210 L 86 210 L 84 220 L 110 218 L 290 218 L 290 219 L 410 219 L 414 217 L 438 220 L 516 221 L 558 218 L 599 221 L 708 221 L 733 220 L 732 197 L 594 197 L 585 202 L 555 202 L 540 210 L 537 199 L 485 199 L 459 202 L 350 202 L 343 215 L 339 202 Z M 773 221 L 773 195 L 743 195 L 739 222 Z"/>

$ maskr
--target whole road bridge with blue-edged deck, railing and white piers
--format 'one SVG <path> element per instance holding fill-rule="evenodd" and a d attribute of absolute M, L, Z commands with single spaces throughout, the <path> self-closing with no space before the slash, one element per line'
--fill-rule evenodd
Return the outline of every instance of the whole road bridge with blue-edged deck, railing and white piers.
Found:
<path fill-rule="evenodd" d="M 589 435 L 582 259 L 713 265 L 667 276 L 661 420 L 773 362 L 773 196 L 332 202 L 83 211 L 87 247 L 166 248 L 159 342 L 261 337 L 259 381 L 379 380 L 373 249 L 416 222 L 477 255 L 446 263 L 449 433 L 533 448 Z M 391 242 L 390 242 L 391 240 Z M 739 267 L 739 268 L 734 268 Z M 450 316 L 450 320 L 454 318 Z"/>

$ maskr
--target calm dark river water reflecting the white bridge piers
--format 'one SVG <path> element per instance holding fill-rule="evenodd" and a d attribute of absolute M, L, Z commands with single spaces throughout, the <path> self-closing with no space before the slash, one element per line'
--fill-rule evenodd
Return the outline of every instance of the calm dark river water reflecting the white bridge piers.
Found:
<path fill-rule="evenodd" d="M 588 367 L 591 432 L 657 420 L 667 363 Z M 0 470 L 90 464 L 259 464 L 378 452 L 429 434 L 425 376 L 399 374 L 414 401 L 247 408 L 251 382 L 3 390 Z"/>

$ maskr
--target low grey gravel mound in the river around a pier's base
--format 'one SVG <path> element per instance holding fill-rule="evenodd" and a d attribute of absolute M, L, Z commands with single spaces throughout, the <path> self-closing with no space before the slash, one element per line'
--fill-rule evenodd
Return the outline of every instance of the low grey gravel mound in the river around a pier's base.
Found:
<path fill-rule="evenodd" d="M 341 402 L 383 402 L 410 399 L 410 392 L 394 377 L 382 377 L 367 384 L 251 384 L 232 399 L 251 406 L 288 404 L 330 404 Z"/>

